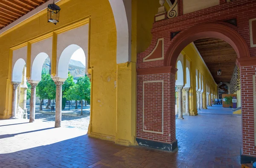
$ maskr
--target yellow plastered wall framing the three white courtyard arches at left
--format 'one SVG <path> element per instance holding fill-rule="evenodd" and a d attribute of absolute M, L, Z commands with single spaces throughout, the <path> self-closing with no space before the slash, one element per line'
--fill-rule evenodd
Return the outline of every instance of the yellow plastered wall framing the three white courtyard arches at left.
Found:
<path fill-rule="evenodd" d="M 10 54 L 9 48 L 19 43 L 32 39 L 40 34 L 52 31 L 55 28 L 65 26 L 76 20 L 90 16 L 90 66 L 93 67 L 93 84 L 92 84 L 92 98 L 93 110 L 91 111 L 92 121 L 90 124 L 90 133 L 95 133 L 99 138 L 107 140 L 115 140 L 119 137 L 121 141 L 127 140 L 126 144 L 134 144 L 135 128 L 136 128 L 136 105 L 131 105 L 135 97 L 134 92 L 136 85 L 136 78 L 125 78 L 117 72 L 116 65 L 116 26 L 113 17 L 113 12 L 108 0 L 62 0 L 57 3 L 61 7 L 60 23 L 54 25 L 47 23 L 46 9 L 39 12 L 30 19 L 20 23 L 18 26 L 12 28 L 8 33 L 0 35 L 0 118 L 9 118 L 11 115 L 11 102 L 12 102 L 12 85 L 10 84 L 9 77 L 9 61 Z M 87 33 L 87 32 L 85 32 Z M 133 51 L 134 53 L 134 51 Z M 132 76 L 136 72 L 134 65 L 124 66 Z M 132 69 L 133 68 L 133 69 Z M 125 133 L 117 136 L 116 121 L 117 108 L 117 74 L 119 74 L 119 83 L 125 80 L 125 85 L 120 85 L 119 90 L 123 86 L 130 86 L 127 100 L 124 98 L 126 111 L 122 113 L 129 114 L 129 123 L 121 125 L 120 128 L 125 127 Z M 6 79 L 8 80 L 6 81 Z M 131 81 L 133 80 L 133 82 Z M 131 85 L 133 84 L 133 87 Z M 6 95 L 9 89 L 9 95 Z M 133 90 L 133 94 L 131 94 Z M 9 99 L 8 106 L 6 107 L 6 97 Z M 6 109 L 5 109 L 6 108 Z M 133 109 L 133 116 L 131 115 L 131 108 Z M 121 113 L 121 116 L 122 116 Z M 126 117 L 126 116 L 125 116 Z M 123 119 L 122 119 L 123 120 Z M 131 126 L 132 125 L 132 126 Z M 132 131 L 132 132 L 131 132 Z M 120 131 L 119 131 L 120 132 Z M 123 142 L 124 143 L 124 142 Z"/>

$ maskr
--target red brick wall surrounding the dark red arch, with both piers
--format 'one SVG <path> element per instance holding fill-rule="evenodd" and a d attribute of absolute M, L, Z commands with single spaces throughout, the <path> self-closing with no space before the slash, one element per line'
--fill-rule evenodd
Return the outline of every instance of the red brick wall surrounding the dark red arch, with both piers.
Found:
<path fill-rule="evenodd" d="M 179 4 L 182 4 L 179 2 Z M 181 6 L 178 7 L 179 10 Z M 236 18 L 237 26 L 223 22 Z M 256 56 L 256 47 L 250 47 L 249 20 L 256 18 L 256 0 L 236 0 L 226 3 L 220 0 L 219 6 L 195 11 L 189 14 L 179 15 L 174 19 L 160 20 L 153 24 L 151 29 L 151 45 L 143 53 L 137 56 L 137 68 L 162 67 L 164 60 L 145 62 L 146 57 L 154 49 L 157 39 L 164 38 L 164 57 L 166 51 L 172 43 L 171 33 L 176 31 L 186 31 L 192 26 L 201 23 L 220 23 L 237 31 L 244 38 L 250 51 L 250 56 Z M 178 38 L 177 34 L 177 38 Z M 256 157 L 256 148 L 254 146 L 254 119 L 253 119 L 253 94 L 252 94 L 252 75 L 256 73 L 255 66 L 241 67 L 241 106 L 242 106 L 242 130 L 243 130 L 243 154 Z M 143 131 L 142 121 L 142 87 L 143 81 L 164 80 L 164 133 L 154 134 Z M 158 87 L 158 86 L 156 86 Z M 137 138 L 153 140 L 158 142 L 173 142 L 175 140 L 175 77 L 169 74 L 152 74 L 137 76 Z M 147 88 L 149 90 L 150 88 Z M 171 92 L 169 91 L 171 90 Z M 152 86 L 152 91 L 153 86 Z M 154 103 L 152 100 L 148 103 Z M 157 107 L 157 106 L 156 106 Z M 152 108 L 154 113 L 154 108 Z M 155 118 L 153 117 L 152 120 Z M 150 122 L 150 118 L 148 121 Z M 152 121 L 151 121 L 152 122 Z M 150 128 L 153 129 L 152 127 Z M 170 134 L 170 137 L 169 137 Z"/>

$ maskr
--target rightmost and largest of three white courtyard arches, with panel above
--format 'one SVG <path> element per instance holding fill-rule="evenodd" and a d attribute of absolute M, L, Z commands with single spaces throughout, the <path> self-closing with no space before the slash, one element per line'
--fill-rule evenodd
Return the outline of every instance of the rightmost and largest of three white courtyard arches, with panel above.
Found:
<path fill-rule="evenodd" d="M 56 77 L 67 78 L 66 71 L 68 71 L 69 60 L 72 54 L 79 48 L 82 48 L 84 51 L 86 62 L 85 73 L 88 74 L 88 31 L 89 25 L 86 24 L 79 28 L 58 34 Z M 66 68 L 65 71 L 63 71 L 64 68 Z"/>

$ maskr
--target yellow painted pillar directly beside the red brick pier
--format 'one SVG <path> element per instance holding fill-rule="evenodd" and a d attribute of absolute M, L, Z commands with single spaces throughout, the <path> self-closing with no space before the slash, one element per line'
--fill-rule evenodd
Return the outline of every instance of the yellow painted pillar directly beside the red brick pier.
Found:
<path fill-rule="evenodd" d="M 136 145 L 136 63 L 117 64 L 116 140 L 120 145 Z"/>

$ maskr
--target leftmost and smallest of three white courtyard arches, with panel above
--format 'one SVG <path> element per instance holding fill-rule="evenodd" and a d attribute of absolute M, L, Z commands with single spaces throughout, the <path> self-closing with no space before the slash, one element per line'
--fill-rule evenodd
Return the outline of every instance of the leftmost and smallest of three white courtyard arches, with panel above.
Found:
<path fill-rule="evenodd" d="M 27 46 L 12 51 L 12 81 L 21 82 L 24 65 L 26 65 Z"/>

